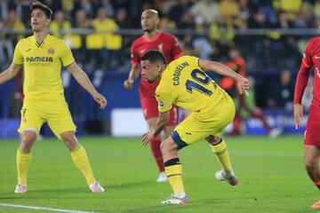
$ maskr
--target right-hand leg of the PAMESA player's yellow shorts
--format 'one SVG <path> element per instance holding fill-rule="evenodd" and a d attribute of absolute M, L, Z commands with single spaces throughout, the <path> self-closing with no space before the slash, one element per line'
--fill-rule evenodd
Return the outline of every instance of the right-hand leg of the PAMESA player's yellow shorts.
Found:
<path fill-rule="evenodd" d="M 59 139 L 64 132 L 76 131 L 76 125 L 72 121 L 68 104 L 64 99 L 52 103 L 52 106 L 48 109 L 47 122 L 54 135 Z"/>

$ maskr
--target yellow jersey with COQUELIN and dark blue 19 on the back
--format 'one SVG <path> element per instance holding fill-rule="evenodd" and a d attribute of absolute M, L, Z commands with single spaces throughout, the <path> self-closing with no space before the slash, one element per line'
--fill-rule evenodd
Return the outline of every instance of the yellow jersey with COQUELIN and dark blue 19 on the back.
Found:
<path fill-rule="evenodd" d="M 182 56 L 164 70 L 156 88 L 158 111 L 166 112 L 172 104 L 191 112 L 208 112 L 228 96 L 198 65 L 198 58 Z"/>

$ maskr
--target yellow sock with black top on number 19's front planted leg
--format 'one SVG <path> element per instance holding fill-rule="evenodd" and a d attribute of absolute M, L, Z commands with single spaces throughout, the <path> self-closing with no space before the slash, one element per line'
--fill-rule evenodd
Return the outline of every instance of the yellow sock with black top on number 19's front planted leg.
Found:
<path fill-rule="evenodd" d="M 182 167 L 180 165 L 179 158 L 173 158 L 164 162 L 164 170 L 169 183 L 172 186 L 173 193 L 185 193 L 182 182 Z"/>

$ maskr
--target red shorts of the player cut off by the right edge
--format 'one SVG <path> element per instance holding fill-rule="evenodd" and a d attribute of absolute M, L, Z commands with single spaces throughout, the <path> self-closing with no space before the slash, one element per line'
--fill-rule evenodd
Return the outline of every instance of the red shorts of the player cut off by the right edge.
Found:
<path fill-rule="evenodd" d="M 320 146 L 320 106 L 310 106 L 304 144 Z"/>

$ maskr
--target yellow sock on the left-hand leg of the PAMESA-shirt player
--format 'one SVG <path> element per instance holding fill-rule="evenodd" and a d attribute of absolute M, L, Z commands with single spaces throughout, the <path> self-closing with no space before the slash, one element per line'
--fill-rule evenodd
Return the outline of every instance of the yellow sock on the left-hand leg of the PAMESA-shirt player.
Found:
<path fill-rule="evenodd" d="M 32 159 L 31 153 L 17 152 L 18 184 L 27 185 L 28 167 Z"/>

